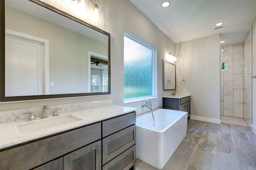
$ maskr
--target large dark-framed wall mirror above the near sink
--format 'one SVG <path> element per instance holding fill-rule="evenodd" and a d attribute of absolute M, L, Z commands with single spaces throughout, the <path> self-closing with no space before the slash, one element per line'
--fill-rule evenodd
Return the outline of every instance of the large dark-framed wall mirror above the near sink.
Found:
<path fill-rule="evenodd" d="M 110 94 L 109 33 L 40 0 L 0 15 L 0 102 Z"/>

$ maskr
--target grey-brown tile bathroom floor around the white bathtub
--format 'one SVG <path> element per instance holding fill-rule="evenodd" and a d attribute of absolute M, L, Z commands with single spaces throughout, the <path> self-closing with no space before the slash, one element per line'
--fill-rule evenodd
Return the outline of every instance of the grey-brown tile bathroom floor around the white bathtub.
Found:
<path fill-rule="evenodd" d="M 136 170 L 157 169 L 137 159 Z M 189 119 L 163 170 L 256 170 L 256 135 L 248 126 Z"/>

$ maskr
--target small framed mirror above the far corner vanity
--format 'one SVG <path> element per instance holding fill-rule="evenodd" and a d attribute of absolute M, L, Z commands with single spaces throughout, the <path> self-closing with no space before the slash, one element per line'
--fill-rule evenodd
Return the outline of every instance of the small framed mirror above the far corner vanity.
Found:
<path fill-rule="evenodd" d="M 163 90 L 176 90 L 176 66 L 163 59 Z"/>

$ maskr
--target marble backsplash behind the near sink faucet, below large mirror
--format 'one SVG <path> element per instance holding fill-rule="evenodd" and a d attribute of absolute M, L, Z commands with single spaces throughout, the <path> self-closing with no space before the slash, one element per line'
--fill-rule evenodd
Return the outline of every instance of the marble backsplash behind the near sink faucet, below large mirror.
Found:
<path fill-rule="evenodd" d="M 52 115 L 54 113 L 54 109 L 58 109 L 58 113 L 66 113 L 70 111 L 78 111 L 83 109 L 89 109 L 94 107 L 108 106 L 112 105 L 112 99 L 107 100 L 98 100 L 92 102 L 82 102 L 75 104 L 64 104 L 64 105 L 56 105 L 51 106 L 50 109 L 47 110 L 47 115 Z M 0 112 L 0 123 L 8 123 L 12 121 L 26 120 L 29 115 L 24 115 L 23 113 L 33 112 L 36 117 L 41 117 L 42 115 L 42 107 L 30 108 L 30 109 L 21 109 L 21 110 L 12 110 L 12 111 L 2 111 Z"/>

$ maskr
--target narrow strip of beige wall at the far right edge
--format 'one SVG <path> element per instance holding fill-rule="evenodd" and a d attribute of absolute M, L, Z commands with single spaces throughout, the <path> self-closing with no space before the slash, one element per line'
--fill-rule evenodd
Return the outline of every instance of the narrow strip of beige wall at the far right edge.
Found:
<path fill-rule="evenodd" d="M 252 76 L 256 75 L 256 21 L 252 25 Z M 256 134 L 256 78 L 252 78 L 252 126 Z"/>

